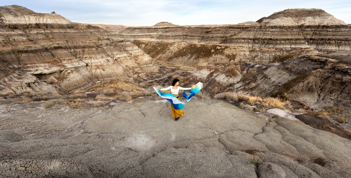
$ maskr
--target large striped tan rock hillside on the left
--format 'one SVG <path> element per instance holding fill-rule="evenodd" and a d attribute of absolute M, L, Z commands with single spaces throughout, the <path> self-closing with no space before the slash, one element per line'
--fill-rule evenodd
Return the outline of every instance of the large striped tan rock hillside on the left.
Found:
<path fill-rule="evenodd" d="M 0 9 L 3 19 L 22 10 L 17 6 Z M 51 18 L 46 14 L 40 15 Z M 65 22 L 5 22 L 0 28 L 1 64 L 2 68 L 9 69 L 2 72 L 1 76 L 4 94 L 30 90 L 31 85 L 39 85 L 38 80 L 52 76 L 58 80 L 53 85 L 56 90 L 73 92 L 89 88 L 96 81 L 115 78 L 143 80 L 146 79 L 145 73 L 158 70 L 151 57 L 137 46 L 125 39 L 113 37 L 110 32 L 98 27 Z M 19 77 L 19 73 L 27 76 L 24 77 L 27 79 Z M 42 87 L 44 89 L 45 92 L 54 90 L 49 86 Z"/>

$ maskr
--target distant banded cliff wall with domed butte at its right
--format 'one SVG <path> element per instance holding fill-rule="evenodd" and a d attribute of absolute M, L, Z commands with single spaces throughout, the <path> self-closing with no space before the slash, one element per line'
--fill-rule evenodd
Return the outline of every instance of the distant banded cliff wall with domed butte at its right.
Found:
<path fill-rule="evenodd" d="M 126 39 L 200 42 L 250 48 L 310 48 L 320 51 L 351 50 L 351 28 L 320 9 L 287 9 L 258 22 L 227 26 L 180 26 L 161 29 L 130 27 Z"/>

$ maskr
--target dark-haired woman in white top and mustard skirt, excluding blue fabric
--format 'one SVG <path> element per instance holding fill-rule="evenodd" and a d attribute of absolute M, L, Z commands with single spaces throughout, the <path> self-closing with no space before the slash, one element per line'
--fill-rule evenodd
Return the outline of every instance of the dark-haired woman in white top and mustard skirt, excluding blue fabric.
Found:
<path fill-rule="evenodd" d="M 173 94 L 175 97 L 178 98 L 179 100 L 179 90 L 191 90 L 192 88 L 195 88 L 196 86 L 193 85 L 191 88 L 183 88 L 179 86 L 179 80 L 174 79 L 172 82 L 172 86 L 169 86 L 167 88 L 157 88 L 157 90 L 171 90 L 171 94 Z M 184 112 L 183 110 L 176 110 L 174 109 L 173 105 L 171 104 L 171 112 L 172 112 L 172 117 L 176 118 L 176 120 L 179 119 L 180 116 L 183 116 Z"/>

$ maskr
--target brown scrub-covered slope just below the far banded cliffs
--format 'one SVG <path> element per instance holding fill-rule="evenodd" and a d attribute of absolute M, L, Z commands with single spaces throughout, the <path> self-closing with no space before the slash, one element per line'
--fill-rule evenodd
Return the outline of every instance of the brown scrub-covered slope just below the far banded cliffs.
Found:
<path fill-rule="evenodd" d="M 237 45 L 154 40 L 133 40 L 133 43 L 155 60 L 170 61 L 183 65 L 229 63 L 234 61 L 269 63 L 278 56 L 282 56 L 291 50 L 299 49 L 248 48 Z M 312 49 L 305 49 L 304 51 L 317 52 Z"/>

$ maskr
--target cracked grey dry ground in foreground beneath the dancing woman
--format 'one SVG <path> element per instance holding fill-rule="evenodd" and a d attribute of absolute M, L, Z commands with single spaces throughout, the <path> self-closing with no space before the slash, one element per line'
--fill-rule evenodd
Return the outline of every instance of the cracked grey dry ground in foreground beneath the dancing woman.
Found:
<path fill-rule="evenodd" d="M 0 177 L 350 177 L 348 139 L 216 99 L 192 99 L 174 121 L 165 101 L 2 105 Z"/>

